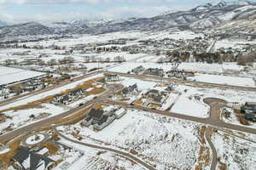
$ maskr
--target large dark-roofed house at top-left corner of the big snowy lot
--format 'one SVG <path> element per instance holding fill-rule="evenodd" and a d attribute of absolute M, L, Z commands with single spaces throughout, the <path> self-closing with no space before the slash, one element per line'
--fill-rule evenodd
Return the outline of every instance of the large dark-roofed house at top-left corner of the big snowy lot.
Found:
<path fill-rule="evenodd" d="M 82 122 L 82 125 L 86 127 L 92 126 L 96 130 L 102 130 L 113 122 L 114 119 L 115 116 L 110 112 L 104 113 L 102 109 L 91 109 L 89 115 Z"/>

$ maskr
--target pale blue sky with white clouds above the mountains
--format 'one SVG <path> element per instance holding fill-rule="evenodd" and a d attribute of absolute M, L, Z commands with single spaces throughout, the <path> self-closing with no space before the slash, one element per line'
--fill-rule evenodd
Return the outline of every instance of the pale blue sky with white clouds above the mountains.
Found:
<path fill-rule="evenodd" d="M 121 20 L 194 8 L 210 0 L 0 0 L 0 21 Z"/>

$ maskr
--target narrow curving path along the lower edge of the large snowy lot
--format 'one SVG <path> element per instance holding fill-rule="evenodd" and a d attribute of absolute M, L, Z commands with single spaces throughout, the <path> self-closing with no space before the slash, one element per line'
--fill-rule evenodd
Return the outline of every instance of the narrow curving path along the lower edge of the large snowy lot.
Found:
<path fill-rule="evenodd" d="M 138 164 L 142 165 L 143 167 L 146 167 L 147 169 L 149 170 L 156 170 L 156 168 L 152 167 L 151 165 L 148 165 L 148 163 L 140 160 L 139 158 L 137 158 L 136 156 L 133 156 L 131 155 L 130 153 L 128 152 L 125 152 L 125 151 L 121 151 L 121 150 L 115 150 L 113 148 L 108 148 L 106 146 L 99 146 L 99 145 L 96 145 L 96 144 L 87 144 L 87 143 L 83 143 L 83 142 L 80 142 L 78 140 L 73 140 L 73 139 L 69 139 L 67 138 L 65 135 L 63 135 L 62 133 L 60 133 L 59 131 L 57 131 L 55 129 L 55 133 L 58 134 L 61 138 L 63 139 L 67 139 L 75 144 L 82 144 L 84 146 L 87 146 L 87 147 L 90 147 L 90 148 L 94 148 L 94 149 L 98 149 L 98 150 L 107 150 L 107 151 L 110 151 L 110 152 L 113 152 L 113 153 L 116 153 L 120 156 L 125 156 L 125 157 L 128 157 L 130 158 L 132 161 L 135 161 L 137 162 Z"/>

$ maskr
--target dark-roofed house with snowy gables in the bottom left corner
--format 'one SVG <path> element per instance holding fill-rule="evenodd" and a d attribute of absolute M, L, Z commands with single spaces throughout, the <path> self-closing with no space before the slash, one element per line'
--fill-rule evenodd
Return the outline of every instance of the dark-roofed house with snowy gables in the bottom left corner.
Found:
<path fill-rule="evenodd" d="M 14 161 L 14 167 L 22 170 L 49 170 L 55 164 L 55 161 L 49 159 L 49 157 L 39 155 L 22 147 L 14 156 Z"/>

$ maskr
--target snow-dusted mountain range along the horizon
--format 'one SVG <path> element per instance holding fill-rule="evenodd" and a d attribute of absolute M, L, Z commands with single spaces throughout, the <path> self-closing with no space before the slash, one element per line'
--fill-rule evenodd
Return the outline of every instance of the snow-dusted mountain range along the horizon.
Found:
<path fill-rule="evenodd" d="M 256 35 L 256 30 L 253 28 L 255 19 L 255 4 L 246 1 L 239 1 L 238 3 L 219 1 L 217 3 L 207 3 L 188 11 L 160 14 L 151 18 L 100 21 L 73 20 L 70 22 L 55 22 L 50 25 L 37 22 L 14 26 L 3 25 L 0 27 L 0 40 L 15 39 L 21 36 L 100 34 L 113 31 L 218 30 L 218 28 L 227 29 L 230 23 L 234 28 L 236 27 L 235 30 L 241 30 L 240 28 L 242 28 L 246 31 L 248 27 L 250 33 Z M 248 20 L 251 21 L 248 22 Z M 241 26 L 242 22 L 246 25 Z M 252 24 L 253 26 L 251 26 Z M 232 31 L 231 28 L 229 27 L 230 31 Z"/>

